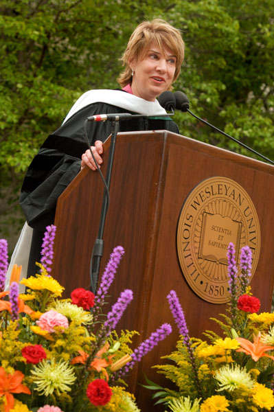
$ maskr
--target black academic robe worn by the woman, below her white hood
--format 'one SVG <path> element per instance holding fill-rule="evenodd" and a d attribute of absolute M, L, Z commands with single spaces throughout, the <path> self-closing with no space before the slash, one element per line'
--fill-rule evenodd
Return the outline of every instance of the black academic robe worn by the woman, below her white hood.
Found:
<path fill-rule="evenodd" d="M 121 92 L 122 93 L 122 92 Z M 47 225 L 54 223 L 56 203 L 60 194 L 80 172 L 81 156 L 87 150 L 84 122 L 100 113 L 133 113 L 106 103 L 84 106 L 49 135 L 27 169 L 21 189 L 20 205 L 27 223 L 34 228 L 28 275 L 37 270 L 41 242 Z M 135 113 L 133 113 L 135 114 Z M 178 126 L 168 116 L 136 117 L 119 122 L 119 132 L 141 130 L 170 130 L 179 133 Z M 111 135 L 111 122 L 88 122 L 89 143 L 104 141 Z"/>

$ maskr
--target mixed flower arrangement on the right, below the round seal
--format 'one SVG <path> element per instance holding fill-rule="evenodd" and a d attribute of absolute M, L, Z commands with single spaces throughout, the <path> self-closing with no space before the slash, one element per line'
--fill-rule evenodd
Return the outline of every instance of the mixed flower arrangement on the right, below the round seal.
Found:
<path fill-rule="evenodd" d="M 251 294 L 252 253 L 243 247 L 240 271 L 235 249 L 227 251 L 230 299 L 222 319 L 213 319 L 223 336 L 206 331 L 207 341 L 190 338 L 176 293 L 168 295 L 181 339 L 157 371 L 176 385 L 163 388 L 148 380 L 153 398 L 172 412 L 274 411 L 274 313 L 260 310 Z M 238 273 L 240 273 L 238 275 Z"/>

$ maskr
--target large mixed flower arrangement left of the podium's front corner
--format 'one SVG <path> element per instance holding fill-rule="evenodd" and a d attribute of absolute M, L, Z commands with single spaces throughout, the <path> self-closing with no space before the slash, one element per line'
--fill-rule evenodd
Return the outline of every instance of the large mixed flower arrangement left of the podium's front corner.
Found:
<path fill-rule="evenodd" d="M 49 275 L 54 235 L 55 227 L 47 227 L 40 273 L 21 280 L 24 294 L 16 265 L 4 291 L 8 244 L 0 240 L 0 411 L 137 412 L 123 378 L 171 327 L 162 325 L 133 352 L 129 344 L 137 332 L 115 331 L 133 292 L 122 291 L 104 314 L 122 247 L 113 250 L 96 296 L 77 288 L 71 299 L 61 299 L 64 288 Z"/>

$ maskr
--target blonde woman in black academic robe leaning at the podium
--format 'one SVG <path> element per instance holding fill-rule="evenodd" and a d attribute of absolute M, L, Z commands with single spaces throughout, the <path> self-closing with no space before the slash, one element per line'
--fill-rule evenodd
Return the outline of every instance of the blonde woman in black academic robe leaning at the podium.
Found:
<path fill-rule="evenodd" d="M 32 236 L 28 275 L 37 271 L 35 262 L 40 260 L 43 233 L 45 227 L 54 222 L 58 196 L 84 166 L 96 169 L 84 142 L 85 119 L 102 113 L 157 115 L 157 119 L 138 117 L 120 122 L 119 131 L 165 129 L 178 133 L 178 127 L 165 116 L 157 96 L 172 89 L 183 57 L 184 43 L 179 30 L 161 19 L 141 23 L 130 36 L 122 56 L 125 68 L 118 79 L 122 90 L 84 93 L 72 106 L 62 126 L 49 135 L 30 164 L 21 190 L 20 204 L 27 224 L 34 229 L 32 233 L 30 227 L 25 227 L 28 236 Z M 102 142 L 111 134 L 111 122 L 89 122 L 87 132 L 100 167 Z M 14 262 L 21 264 L 18 255 L 14 256 Z"/>

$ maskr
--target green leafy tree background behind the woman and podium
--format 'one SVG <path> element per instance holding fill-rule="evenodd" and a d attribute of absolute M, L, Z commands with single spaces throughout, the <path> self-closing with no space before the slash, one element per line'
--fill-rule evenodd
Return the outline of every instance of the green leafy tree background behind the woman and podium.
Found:
<path fill-rule="evenodd" d="M 39 146 L 84 91 L 118 87 L 128 37 L 154 17 L 183 33 L 174 89 L 192 111 L 274 159 L 273 0 L 0 0 L 0 237 L 19 231 Z M 174 119 L 182 135 L 251 156 L 187 113 Z"/>

